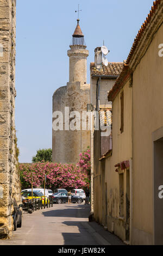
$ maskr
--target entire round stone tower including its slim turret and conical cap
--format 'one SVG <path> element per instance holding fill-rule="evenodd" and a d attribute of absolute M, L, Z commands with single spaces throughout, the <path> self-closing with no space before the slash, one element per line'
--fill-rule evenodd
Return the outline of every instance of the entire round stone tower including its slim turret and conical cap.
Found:
<path fill-rule="evenodd" d="M 79 19 L 67 55 L 70 59 L 69 82 L 53 94 L 52 149 L 54 162 L 76 163 L 80 152 L 90 146 L 90 131 L 87 128 L 82 130 L 82 113 L 86 112 L 87 103 L 90 103 L 90 84 L 86 83 L 89 51 L 86 50 Z M 57 111 L 62 113 L 62 130 L 54 127 Z M 80 129 L 71 129 L 74 119 L 80 123 Z"/>

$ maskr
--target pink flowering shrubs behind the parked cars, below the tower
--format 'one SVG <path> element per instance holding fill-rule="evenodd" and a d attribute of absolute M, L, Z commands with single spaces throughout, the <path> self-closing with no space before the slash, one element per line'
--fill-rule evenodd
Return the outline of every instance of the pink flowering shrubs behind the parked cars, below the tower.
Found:
<path fill-rule="evenodd" d="M 90 149 L 80 154 L 77 164 L 61 164 L 53 162 L 37 162 L 32 164 L 20 164 L 21 182 L 23 188 L 43 187 L 45 175 L 48 188 L 63 187 L 86 188 L 90 186 Z"/>

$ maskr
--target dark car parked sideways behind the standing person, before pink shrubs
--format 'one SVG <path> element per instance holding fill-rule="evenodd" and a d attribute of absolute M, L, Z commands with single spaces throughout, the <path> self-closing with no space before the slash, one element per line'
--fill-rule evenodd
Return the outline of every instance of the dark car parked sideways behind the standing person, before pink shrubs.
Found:
<path fill-rule="evenodd" d="M 66 203 L 68 202 L 68 193 L 52 194 L 52 198 L 53 198 L 53 203 L 57 203 L 57 204 Z M 71 202 L 74 204 L 75 203 L 81 204 L 83 202 L 83 198 L 78 196 L 71 196 Z"/>

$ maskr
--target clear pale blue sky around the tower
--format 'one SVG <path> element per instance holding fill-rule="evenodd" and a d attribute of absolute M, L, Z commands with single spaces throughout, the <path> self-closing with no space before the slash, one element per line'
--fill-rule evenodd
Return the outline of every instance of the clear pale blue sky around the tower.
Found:
<path fill-rule="evenodd" d="M 87 82 L 94 50 L 103 40 L 110 62 L 127 59 L 145 21 L 151 0 L 17 0 L 16 130 L 20 162 L 31 162 L 38 149 L 52 148 L 52 96 L 68 82 L 67 50 L 77 25 L 87 50 Z"/>

